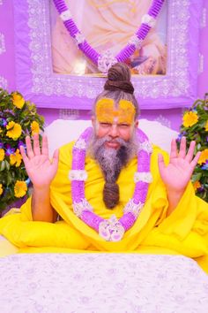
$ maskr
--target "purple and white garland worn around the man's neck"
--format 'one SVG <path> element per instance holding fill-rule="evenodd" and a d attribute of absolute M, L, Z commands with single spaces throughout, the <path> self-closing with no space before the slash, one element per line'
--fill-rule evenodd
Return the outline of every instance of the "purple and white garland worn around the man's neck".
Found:
<path fill-rule="evenodd" d="M 123 234 L 134 225 L 145 204 L 149 183 L 152 181 L 152 174 L 150 173 L 152 145 L 147 136 L 141 130 L 137 130 L 139 149 L 137 152 L 137 172 L 134 175 L 136 183 L 134 195 L 125 205 L 122 218 L 118 220 L 115 215 L 112 215 L 109 219 L 103 219 L 93 213 L 92 206 L 85 199 L 85 180 L 87 179 L 85 148 L 92 133 L 92 127 L 85 129 L 72 149 L 72 170 L 69 173 L 72 206 L 78 218 L 81 218 L 86 225 L 98 232 L 104 240 L 119 241 L 122 240 Z"/>

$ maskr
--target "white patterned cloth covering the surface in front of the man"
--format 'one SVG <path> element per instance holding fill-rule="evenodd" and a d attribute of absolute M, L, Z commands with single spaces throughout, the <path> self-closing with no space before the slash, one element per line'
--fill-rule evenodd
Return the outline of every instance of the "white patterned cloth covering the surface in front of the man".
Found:
<path fill-rule="evenodd" d="M 3 313 L 208 312 L 208 276 L 184 256 L 19 254 L 0 272 Z"/>

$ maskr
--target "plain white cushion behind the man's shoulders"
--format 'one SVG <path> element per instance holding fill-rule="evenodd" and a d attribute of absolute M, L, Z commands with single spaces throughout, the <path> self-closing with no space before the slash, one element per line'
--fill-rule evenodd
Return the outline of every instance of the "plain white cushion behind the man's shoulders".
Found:
<path fill-rule="evenodd" d="M 69 120 L 56 119 L 46 127 L 45 133 L 48 135 L 49 155 L 52 156 L 55 149 L 63 144 L 78 139 L 86 127 L 92 126 L 91 120 Z M 178 133 L 160 124 L 157 121 L 140 119 L 139 127 L 147 134 L 150 141 L 169 153 L 171 139 L 176 138 Z"/>

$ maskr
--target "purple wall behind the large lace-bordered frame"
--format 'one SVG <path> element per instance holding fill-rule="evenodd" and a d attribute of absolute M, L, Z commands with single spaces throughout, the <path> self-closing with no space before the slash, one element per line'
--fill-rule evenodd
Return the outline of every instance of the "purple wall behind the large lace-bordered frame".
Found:
<path fill-rule="evenodd" d="M 204 1 L 204 10 L 200 29 L 200 66 L 197 78 L 197 95 L 204 97 L 208 92 L 208 23 L 207 23 L 208 0 Z M 15 46 L 14 46 L 14 22 L 13 5 L 10 0 L 0 0 L 0 86 L 12 91 L 16 89 L 15 80 Z M 190 103 L 191 105 L 192 103 Z M 89 111 L 39 109 L 45 117 L 46 125 L 56 118 L 90 118 Z M 168 110 L 143 110 L 141 118 L 159 120 L 166 126 L 178 130 L 181 125 L 182 109 Z"/>

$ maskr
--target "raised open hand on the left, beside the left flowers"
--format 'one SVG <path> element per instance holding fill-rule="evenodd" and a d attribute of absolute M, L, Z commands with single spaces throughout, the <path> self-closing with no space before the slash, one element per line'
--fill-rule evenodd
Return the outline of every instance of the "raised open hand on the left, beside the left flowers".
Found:
<path fill-rule="evenodd" d="M 58 168 L 58 149 L 55 150 L 53 158 L 50 160 L 47 136 L 43 134 L 42 147 L 40 147 L 39 134 L 34 134 L 33 146 L 30 137 L 26 136 L 26 151 L 21 146 L 20 152 L 33 187 L 37 189 L 49 187 Z"/>

